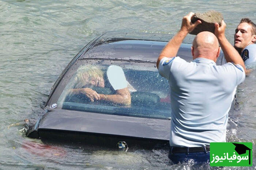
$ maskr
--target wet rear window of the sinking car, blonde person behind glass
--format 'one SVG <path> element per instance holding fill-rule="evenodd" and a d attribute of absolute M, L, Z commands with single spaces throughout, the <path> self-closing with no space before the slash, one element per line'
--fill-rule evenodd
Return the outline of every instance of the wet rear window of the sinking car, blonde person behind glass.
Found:
<path fill-rule="evenodd" d="M 110 72 L 110 68 L 116 70 Z M 157 119 L 171 117 L 169 83 L 159 75 L 155 63 L 83 59 L 78 60 L 67 74 L 70 76 L 65 76 L 62 82 L 57 108 Z M 117 85 L 113 85 L 113 79 L 117 80 Z M 123 105 L 104 100 L 92 102 L 86 94 L 74 92 L 74 89 L 90 88 L 98 94 L 109 96 L 116 94 L 115 86 L 122 84 L 123 80 L 131 94 L 131 104 Z"/>

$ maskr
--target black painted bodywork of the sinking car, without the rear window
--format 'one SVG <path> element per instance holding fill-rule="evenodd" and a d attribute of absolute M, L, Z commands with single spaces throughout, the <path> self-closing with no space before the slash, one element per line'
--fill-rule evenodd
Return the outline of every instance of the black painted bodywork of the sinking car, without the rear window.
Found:
<path fill-rule="evenodd" d="M 51 104 L 57 100 L 54 95 L 56 95 L 56 89 L 60 88 L 61 80 L 78 60 L 110 59 L 156 63 L 159 53 L 167 43 L 167 41 L 144 39 L 103 39 L 103 36 L 87 44 L 68 64 L 52 87 L 44 108 L 46 113 L 38 119 L 36 124 L 30 125 L 26 136 L 43 140 L 76 141 L 112 147 L 116 147 L 119 141 L 125 141 L 128 145 L 146 147 L 152 147 L 159 143 L 168 145 L 170 119 L 140 118 L 51 108 Z M 113 58 L 111 54 L 118 54 L 118 58 Z M 178 56 L 192 61 L 191 44 L 183 43 L 178 51 Z M 57 96 L 59 95 L 57 94 Z"/>

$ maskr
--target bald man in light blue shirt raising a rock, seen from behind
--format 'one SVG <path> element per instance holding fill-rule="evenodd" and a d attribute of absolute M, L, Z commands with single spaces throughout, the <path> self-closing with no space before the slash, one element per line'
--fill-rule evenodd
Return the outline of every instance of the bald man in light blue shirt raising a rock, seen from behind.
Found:
<path fill-rule="evenodd" d="M 188 63 L 176 56 L 184 38 L 200 20 L 194 13 L 182 19 L 180 31 L 166 44 L 157 60 L 159 74 L 169 80 L 172 121 L 169 158 L 173 163 L 209 162 L 210 143 L 226 142 L 226 126 L 236 87 L 245 79 L 242 58 L 225 37 L 226 24 L 215 23 L 215 35 L 200 32 Z M 219 44 L 221 47 L 219 47 Z M 217 66 L 220 50 L 228 63 Z M 181 56 L 182 57 L 182 56 Z"/>

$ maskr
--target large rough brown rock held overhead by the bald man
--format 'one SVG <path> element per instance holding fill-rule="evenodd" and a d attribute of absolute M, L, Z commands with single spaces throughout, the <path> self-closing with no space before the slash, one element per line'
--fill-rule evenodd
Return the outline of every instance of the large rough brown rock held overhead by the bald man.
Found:
<path fill-rule="evenodd" d="M 197 25 L 196 28 L 192 32 L 190 32 L 190 34 L 197 35 L 199 32 L 202 31 L 209 31 L 214 33 L 214 23 L 219 23 L 221 25 L 223 16 L 220 12 L 217 11 L 195 13 L 195 16 L 192 17 L 191 22 L 194 23 L 197 20 L 202 21 L 202 24 Z"/>

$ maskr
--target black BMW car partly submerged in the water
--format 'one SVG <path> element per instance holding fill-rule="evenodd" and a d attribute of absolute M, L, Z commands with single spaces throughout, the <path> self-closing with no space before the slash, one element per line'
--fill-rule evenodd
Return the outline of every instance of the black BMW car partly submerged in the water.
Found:
<path fill-rule="evenodd" d="M 138 39 L 105 33 L 91 41 L 60 75 L 45 104 L 45 114 L 37 123 L 29 124 L 26 136 L 119 148 L 169 146 L 172 118 L 169 83 L 159 75 L 156 67 L 158 55 L 169 38 L 153 35 Z M 189 62 L 192 61 L 192 40 L 187 41 L 182 43 L 178 56 Z M 218 64 L 222 63 L 222 58 Z M 89 75 L 87 68 L 91 67 L 101 70 L 105 86 L 81 84 L 82 79 L 90 81 L 86 75 Z M 90 88 L 104 98 L 112 95 L 113 89 L 106 85 L 112 81 L 107 75 L 109 67 L 117 68 L 111 74 L 120 82 L 124 74 L 130 104 L 92 101 L 82 92 L 72 92 Z M 81 70 L 84 68 L 88 72 L 85 71 L 83 77 Z"/>

